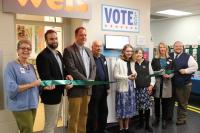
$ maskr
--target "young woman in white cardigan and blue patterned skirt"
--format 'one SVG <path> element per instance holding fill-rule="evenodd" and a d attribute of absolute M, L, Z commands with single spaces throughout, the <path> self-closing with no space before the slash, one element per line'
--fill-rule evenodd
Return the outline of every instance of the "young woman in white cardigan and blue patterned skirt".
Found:
<path fill-rule="evenodd" d="M 120 133 L 129 133 L 129 118 L 135 114 L 135 63 L 133 47 L 123 47 L 121 56 L 114 67 L 114 78 L 119 81 L 116 91 L 116 117 L 119 119 Z"/>

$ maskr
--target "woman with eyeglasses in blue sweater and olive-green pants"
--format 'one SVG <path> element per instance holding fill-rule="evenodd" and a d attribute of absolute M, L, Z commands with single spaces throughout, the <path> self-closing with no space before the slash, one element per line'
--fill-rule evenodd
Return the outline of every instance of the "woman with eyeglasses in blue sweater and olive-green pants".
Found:
<path fill-rule="evenodd" d="M 17 44 L 18 58 L 7 64 L 4 73 L 7 106 L 12 111 L 20 133 L 32 133 L 39 100 L 40 80 L 28 63 L 32 46 L 29 40 Z"/>

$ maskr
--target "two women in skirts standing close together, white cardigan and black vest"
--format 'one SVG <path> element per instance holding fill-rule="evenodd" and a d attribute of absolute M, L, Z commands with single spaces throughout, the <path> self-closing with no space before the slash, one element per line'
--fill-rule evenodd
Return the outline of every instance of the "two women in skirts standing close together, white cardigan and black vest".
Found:
<path fill-rule="evenodd" d="M 115 108 L 120 133 L 130 133 L 129 119 L 136 115 L 136 111 L 140 119 L 138 127 L 142 128 L 145 122 L 145 129 L 153 132 L 149 120 L 155 78 L 150 77 L 153 70 L 149 61 L 144 60 L 143 54 L 143 49 L 134 51 L 133 47 L 127 44 L 114 67 L 114 78 L 118 81 Z"/>

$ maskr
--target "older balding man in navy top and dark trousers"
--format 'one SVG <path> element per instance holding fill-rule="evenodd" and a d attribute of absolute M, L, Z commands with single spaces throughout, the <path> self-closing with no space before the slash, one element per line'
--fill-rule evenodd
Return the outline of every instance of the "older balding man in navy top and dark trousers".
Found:
<path fill-rule="evenodd" d="M 92 53 L 96 62 L 97 81 L 109 81 L 108 67 L 105 56 L 101 54 L 102 43 L 92 43 Z M 87 133 L 105 133 L 108 117 L 107 95 L 109 84 L 95 85 L 92 87 L 92 96 L 88 105 Z"/>

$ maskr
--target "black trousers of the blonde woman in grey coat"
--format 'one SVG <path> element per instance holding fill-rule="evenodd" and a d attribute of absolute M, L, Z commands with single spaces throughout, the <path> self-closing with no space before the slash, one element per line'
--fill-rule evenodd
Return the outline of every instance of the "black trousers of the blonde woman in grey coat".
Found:
<path fill-rule="evenodd" d="M 171 98 L 154 98 L 154 109 L 156 119 L 160 118 L 160 104 L 162 104 L 162 119 L 168 119 L 168 111 Z"/>

